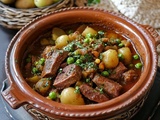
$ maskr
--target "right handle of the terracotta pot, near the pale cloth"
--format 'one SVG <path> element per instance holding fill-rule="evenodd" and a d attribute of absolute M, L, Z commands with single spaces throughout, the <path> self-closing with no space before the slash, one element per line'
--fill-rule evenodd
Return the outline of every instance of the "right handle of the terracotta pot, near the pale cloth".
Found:
<path fill-rule="evenodd" d="M 151 34 L 151 36 L 155 40 L 153 42 L 155 43 L 156 46 L 158 46 L 158 44 L 160 44 L 160 35 L 156 31 L 156 29 L 151 27 L 150 25 L 141 25 L 141 26 Z"/>

